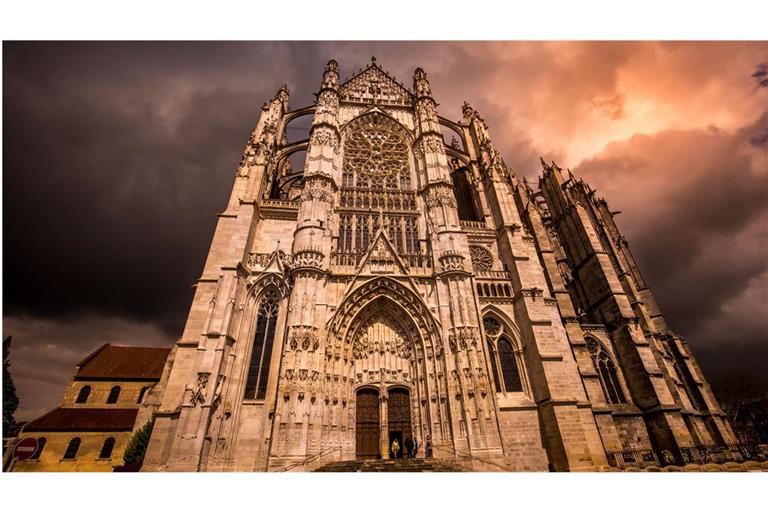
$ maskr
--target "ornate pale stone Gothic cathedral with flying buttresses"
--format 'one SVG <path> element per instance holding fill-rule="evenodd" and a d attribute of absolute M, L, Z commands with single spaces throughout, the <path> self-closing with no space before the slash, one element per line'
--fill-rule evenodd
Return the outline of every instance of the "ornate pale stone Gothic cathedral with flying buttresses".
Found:
<path fill-rule="evenodd" d="M 330 61 L 316 97 L 262 108 L 143 470 L 307 470 L 410 436 L 476 470 L 596 471 L 736 442 L 587 184 L 519 179 L 422 69 L 408 89 Z"/>

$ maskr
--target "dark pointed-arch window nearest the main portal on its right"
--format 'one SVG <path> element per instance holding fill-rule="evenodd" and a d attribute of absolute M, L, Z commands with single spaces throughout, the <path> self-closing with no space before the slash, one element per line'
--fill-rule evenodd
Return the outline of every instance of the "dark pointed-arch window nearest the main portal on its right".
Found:
<path fill-rule="evenodd" d="M 511 333 L 494 317 L 483 320 L 496 391 L 518 393 L 524 390 L 522 354 L 515 348 Z"/>

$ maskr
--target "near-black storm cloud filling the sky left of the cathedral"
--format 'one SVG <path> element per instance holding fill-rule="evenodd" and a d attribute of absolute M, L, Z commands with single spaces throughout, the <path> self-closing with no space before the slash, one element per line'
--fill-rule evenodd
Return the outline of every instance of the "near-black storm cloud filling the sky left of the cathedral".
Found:
<path fill-rule="evenodd" d="M 72 46 L 5 49 L 6 314 L 178 330 L 244 138 L 279 83 L 253 80 L 269 66 L 237 51 Z"/>

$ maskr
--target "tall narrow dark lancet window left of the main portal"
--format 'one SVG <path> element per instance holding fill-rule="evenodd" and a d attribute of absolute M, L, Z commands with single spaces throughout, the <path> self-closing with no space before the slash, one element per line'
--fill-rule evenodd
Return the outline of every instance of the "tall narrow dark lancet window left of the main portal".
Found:
<path fill-rule="evenodd" d="M 275 324 L 280 307 L 280 295 L 275 288 L 266 290 L 259 301 L 256 315 L 256 333 L 253 336 L 251 362 L 245 381 L 245 398 L 263 400 L 267 395 L 269 363 L 275 340 Z"/>

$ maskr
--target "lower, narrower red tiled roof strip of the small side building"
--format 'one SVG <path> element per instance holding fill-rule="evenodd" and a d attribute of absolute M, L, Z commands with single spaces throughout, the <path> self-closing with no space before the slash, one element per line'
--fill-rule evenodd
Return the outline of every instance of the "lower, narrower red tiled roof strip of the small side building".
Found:
<path fill-rule="evenodd" d="M 91 409 L 59 407 L 32 420 L 24 432 L 118 432 L 132 430 L 138 409 Z"/>

